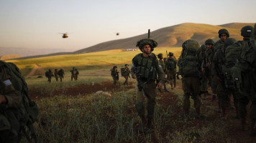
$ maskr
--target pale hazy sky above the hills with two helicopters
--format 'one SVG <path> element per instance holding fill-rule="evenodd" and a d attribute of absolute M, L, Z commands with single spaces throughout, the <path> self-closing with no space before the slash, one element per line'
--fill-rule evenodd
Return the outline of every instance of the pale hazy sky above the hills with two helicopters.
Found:
<path fill-rule="evenodd" d="M 0 47 L 75 51 L 184 22 L 255 23 L 255 6 L 255 0 L 0 0 Z"/>

